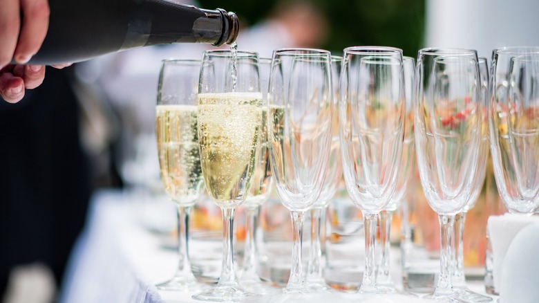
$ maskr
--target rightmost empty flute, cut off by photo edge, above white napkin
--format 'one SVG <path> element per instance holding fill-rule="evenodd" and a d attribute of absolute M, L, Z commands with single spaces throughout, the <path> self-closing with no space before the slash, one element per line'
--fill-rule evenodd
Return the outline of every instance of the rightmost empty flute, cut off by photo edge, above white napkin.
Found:
<path fill-rule="evenodd" d="M 489 130 L 498 192 L 510 212 L 539 210 L 539 47 L 493 50 Z"/>

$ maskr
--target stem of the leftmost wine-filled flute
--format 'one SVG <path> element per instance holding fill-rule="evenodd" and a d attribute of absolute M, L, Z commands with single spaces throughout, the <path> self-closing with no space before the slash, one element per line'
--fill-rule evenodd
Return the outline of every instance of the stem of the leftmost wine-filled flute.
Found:
<path fill-rule="evenodd" d="M 189 214 L 191 206 L 178 205 L 178 255 L 179 262 L 175 277 L 195 278 L 189 262 Z"/>

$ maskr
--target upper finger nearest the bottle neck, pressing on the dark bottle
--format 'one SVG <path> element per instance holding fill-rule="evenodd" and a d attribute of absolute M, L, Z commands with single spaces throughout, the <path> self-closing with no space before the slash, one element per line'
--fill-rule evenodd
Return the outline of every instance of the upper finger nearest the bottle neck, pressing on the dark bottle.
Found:
<path fill-rule="evenodd" d="M 13 57 L 19 64 L 28 62 L 41 47 L 48 30 L 50 8 L 47 0 L 20 0 L 23 21 Z"/>

